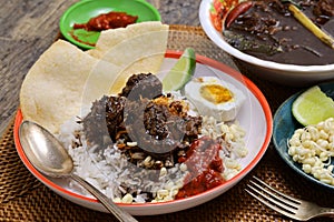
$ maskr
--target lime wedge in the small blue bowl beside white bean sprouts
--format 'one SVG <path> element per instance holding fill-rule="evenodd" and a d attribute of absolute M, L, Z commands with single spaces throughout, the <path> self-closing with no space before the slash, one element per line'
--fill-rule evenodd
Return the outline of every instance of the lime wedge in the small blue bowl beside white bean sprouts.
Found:
<path fill-rule="evenodd" d="M 303 92 L 293 102 L 292 112 L 303 125 L 317 124 L 334 118 L 334 101 L 316 85 Z"/>

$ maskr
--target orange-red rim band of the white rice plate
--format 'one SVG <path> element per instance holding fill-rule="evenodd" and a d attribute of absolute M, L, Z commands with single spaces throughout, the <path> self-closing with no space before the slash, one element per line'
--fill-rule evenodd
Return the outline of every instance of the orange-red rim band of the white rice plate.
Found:
<path fill-rule="evenodd" d="M 170 58 L 170 59 L 178 59 L 181 56 L 181 51 L 171 51 L 171 50 L 167 50 L 165 53 L 165 58 Z M 264 114 L 265 114 L 265 120 L 267 123 L 267 129 L 266 129 L 266 137 L 264 139 L 264 142 L 262 144 L 262 148 L 259 149 L 258 153 L 256 154 L 256 157 L 250 161 L 249 164 L 247 164 L 240 172 L 238 172 L 238 174 L 236 174 L 234 178 L 232 178 L 230 180 L 226 181 L 225 183 L 213 188 L 210 190 L 207 190 L 203 193 L 189 196 L 189 198 L 185 198 L 185 199 L 179 199 L 179 200 L 173 200 L 173 201 L 166 201 L 166 202 L 158 202 L 158 203 L 143 203 L 143 204 L 131 204 L 131 203 L 118 203 L 118 205 L 120 206 L 135 206 L 135 208 L 140 208 L 140 206 L 148 206 L 148 205 L 168 205 L 168 204 L 174 204 L 176 202 L 183 202 L 183 201 L 188 201 L 191 199 L 197 199 L 198 196 L 205 195 L 207 193 L 213 193 L 217 190 L 219 190 L 222 186 L 229 186 L 229 184 L 234 181 L 238 181 L 240 180 L 240 178 L 244 176 L 245 173 L 248 173 L 262 159 L 262 157 L 264 155 L 264 153 L 267 150 L 267 147 L 271 142 L 271 138 L 272 138 L 272 133 L 273 133 L 273 118 L 272 118 L 272 111 L 269 108 L 269 104 L 266 100 L 266 98 L 264 97 L 264 94 L 261 92 L 261 90 L 246 77 L 244 77 L 243 74 L 240 74 L 238 71 L 234 70 L 233 68 L 220 63 L 216 60 L 196 54 L 196 62 L 200 63 L 200 64 L 205 64 L 207 67 L 212 67 L 215 68 L 219 71 L 223 71 L 224 73 L 233 77 L 234 79 L 236 79 L 237 81 L 244 83 L 246 85 L 246 88 L 253 93 L 253 95 L 256 97 L 256 99 L 258 100 Z M 55 190 L 61 192 L 61 193 L 66 193 L 67 195 L 70 195 L 72 198 L 77 198 L 84 201 L 89 201 L 89 202 L 98 202 L 98 200 L 94 199 L 94 198 L 88 198 L 78 193 L 75 193 L 72 191 L 66 190 L 63 188 L 61 188 L 60 185 L 53 183 L 52 181 L 50 181 L 48 178 L 46 178 L 43 174 L 41 174 L 38 170 L 36 170 L 33 168 L 33 165 L 29 162 L 29 160 L 27 159 L 21 143 L 19 141 L 19 127 L 21 124 L 23 120 L 22 117 L 22 112 L 21 110 L 18 110 L 17 114 L 16 114 L 16 119 L 14 119 L 14 129 L 13 129 L 13 138 L 14 138 L 14 143 L 16 143 L 16 148 L 17 151 L 19 153 L 19 157 L 21 158 L 22 162 L 24 163 L 24 165 L 27 167 L 27 169 L 36 176 L 38 178 L 40 181 L 42 181 L 45 184 L 48 184 L 49 186 L 53 188 Z"/>

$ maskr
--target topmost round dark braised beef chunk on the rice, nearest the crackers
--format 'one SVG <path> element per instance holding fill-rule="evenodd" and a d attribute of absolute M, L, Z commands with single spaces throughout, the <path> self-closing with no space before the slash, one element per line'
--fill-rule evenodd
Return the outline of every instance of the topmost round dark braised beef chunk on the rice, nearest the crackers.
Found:
<path fill-rule="evenodd" d="M 139 100 L 140 98 L 153 99 L 163 94 L 163 83 L 151 73 L 134 74 L 129 78 L 126 87 L 119 93 L 128 100 Z"/>

